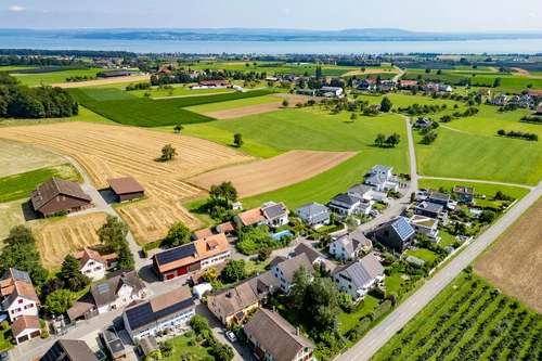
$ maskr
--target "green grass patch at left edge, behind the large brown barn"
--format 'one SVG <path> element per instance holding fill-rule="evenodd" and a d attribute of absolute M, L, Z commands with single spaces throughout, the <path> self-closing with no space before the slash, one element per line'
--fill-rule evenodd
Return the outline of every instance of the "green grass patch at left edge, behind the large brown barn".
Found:
<path fill-rule="evenodd" d="M 51 177 L 66 180 L 81 180 L 70 164 L 30 170 L 24 173 L 0 178 L 0 203 L 27 198 L 30 192 Z"/>

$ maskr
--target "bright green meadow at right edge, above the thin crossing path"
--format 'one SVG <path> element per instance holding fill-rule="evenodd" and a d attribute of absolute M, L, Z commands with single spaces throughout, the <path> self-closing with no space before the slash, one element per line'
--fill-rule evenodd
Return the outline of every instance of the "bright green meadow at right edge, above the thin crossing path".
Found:
<path fill-rule="evenodd" d="M 453 125 L 453 121 L 451 123 Z M 442 127 L 430 145 L 414 133 L 422 176 L 538 184 L 542 177 L 542 145 L 521 139 L 462 133 Z"/>

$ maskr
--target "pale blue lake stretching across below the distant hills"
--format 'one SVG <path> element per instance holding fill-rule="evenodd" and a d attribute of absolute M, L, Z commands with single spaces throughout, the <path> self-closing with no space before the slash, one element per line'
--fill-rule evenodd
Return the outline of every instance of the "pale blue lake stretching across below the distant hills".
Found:
<path fill-rule="evenodd" d="M 35 37 L 0 37 L 0 48 L 62 50 L 125 50 L 137 53 L 238 53 L 238 54 L 383 54 L 542 53 L 542 39 L 465 41 L 176 41 L 98 40 Z"/>

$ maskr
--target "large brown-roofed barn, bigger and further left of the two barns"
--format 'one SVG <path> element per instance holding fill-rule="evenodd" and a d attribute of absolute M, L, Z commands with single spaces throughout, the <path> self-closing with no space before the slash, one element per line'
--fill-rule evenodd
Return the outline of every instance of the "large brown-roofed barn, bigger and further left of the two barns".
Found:
<path fill-rule="evenodd" d="M 34 210 L 43 217 L 60 211 L 74 212 L 92 208 L 92 198 L 81 186 L 59 178 L 50 178 L 30 193 Z"/>

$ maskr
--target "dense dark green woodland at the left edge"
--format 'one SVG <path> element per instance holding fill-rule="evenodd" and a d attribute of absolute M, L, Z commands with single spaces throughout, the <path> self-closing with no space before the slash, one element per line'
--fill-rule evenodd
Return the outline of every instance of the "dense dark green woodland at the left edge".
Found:
<path fill-rule="evenodd" d="M 63 118 L 77 115 L 79 105 L 64 89 L 29 88 L 0 72 L 0 118 Z"/>

